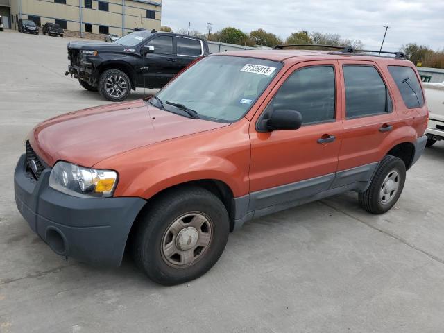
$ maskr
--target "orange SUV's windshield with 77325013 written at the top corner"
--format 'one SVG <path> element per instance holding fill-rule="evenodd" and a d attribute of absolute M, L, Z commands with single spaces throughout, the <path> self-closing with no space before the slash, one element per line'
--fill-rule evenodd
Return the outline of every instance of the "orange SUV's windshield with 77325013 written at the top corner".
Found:
<path fill-rule="evenodd" d="M 167 105 L 185 105 L 202 119 L 233 122 L 244 117 L 281 68 L 281 62 L 271 60 L 209 56 L 173 80 L 157 97 Z M 165 108 L 173 108 L 167 105 Z"/>

